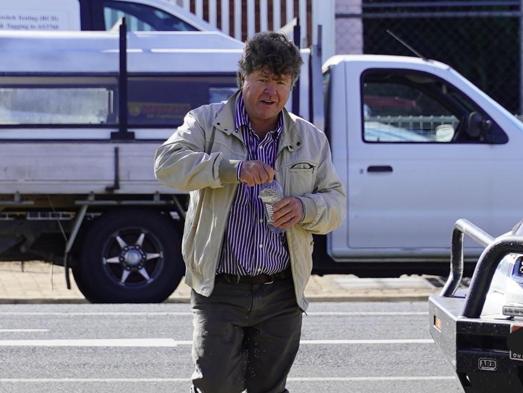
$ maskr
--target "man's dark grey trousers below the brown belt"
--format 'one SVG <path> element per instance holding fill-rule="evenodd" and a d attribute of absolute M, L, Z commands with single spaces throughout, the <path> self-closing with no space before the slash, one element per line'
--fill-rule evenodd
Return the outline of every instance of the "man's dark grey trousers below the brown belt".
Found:
<path fill-rule="evenodd" d="M 218 278 L 210 297 L 191 291 L 192 393 L 288 393 L 302 311 L 292 278 L 233 284 Z"/>

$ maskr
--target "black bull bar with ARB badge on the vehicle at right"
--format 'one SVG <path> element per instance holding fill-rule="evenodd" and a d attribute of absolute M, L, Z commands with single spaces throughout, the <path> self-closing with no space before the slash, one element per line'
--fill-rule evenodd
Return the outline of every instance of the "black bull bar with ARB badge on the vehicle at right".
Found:
<path fill-rule="evenodd" d="M 485 247 L 465 298 L 454 296 L 463 276 L 463 238 Z M 452 232 L 451 272 L 439 295 L 429 298 L 430 334 L 456 372 L 465 393 L 523 392 L 523 362 L 509 357 L 507 337 L 515 321 L 480 318 L 496 267 L 504 256 L 523 254 L 523 235 L 494 239 L 467 220 Z M 523 320 L 520 320 L 523 325 Z"/>

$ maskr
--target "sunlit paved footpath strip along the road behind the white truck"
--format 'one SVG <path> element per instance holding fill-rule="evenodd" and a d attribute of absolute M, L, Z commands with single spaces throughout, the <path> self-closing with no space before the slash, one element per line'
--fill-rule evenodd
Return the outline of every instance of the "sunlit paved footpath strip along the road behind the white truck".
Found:
<path fill-rule="evenodd" d="M 353 275 L 312 276 L 305 289 L 310 301 L 426 301 L 441 291 L 433 276 L 358 278 Z M 64 268 L 38 261 L 0 262 L 0 304 L 86 303 L 71 274 L 65 285 Z M 180 283 L 167 302 L 189 302 L 190 288 Z"/>

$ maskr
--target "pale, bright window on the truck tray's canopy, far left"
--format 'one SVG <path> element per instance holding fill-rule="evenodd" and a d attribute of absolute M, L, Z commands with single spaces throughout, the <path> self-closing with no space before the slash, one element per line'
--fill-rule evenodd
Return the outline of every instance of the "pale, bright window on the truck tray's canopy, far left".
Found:
<path fill-rule="evenodd" d="M 116 77 L 0 77 L 0 125 L 111 125 Z"/>

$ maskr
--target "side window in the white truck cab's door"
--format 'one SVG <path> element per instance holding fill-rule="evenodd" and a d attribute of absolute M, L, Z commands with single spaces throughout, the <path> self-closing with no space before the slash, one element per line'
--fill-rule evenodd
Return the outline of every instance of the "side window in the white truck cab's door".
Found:
<path fill-rule="evenodd" d="M 504 143 L 488 140 L 492 123 L 481 108 L 431 75 L 369 71 L 362 97 L 366 142 Z"/>

